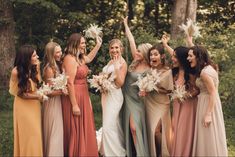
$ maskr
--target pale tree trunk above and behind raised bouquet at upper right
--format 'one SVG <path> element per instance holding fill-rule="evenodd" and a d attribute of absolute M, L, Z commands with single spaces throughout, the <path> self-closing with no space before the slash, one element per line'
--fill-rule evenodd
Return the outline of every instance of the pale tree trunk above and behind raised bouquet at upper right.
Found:
<path fill-rule="evenodd" d="M 172 10 L 171 37 L 177 39 L 181 36 L 179 25 L 187 19 L 196 21 L 197 0 L 175 0 Z"/>

